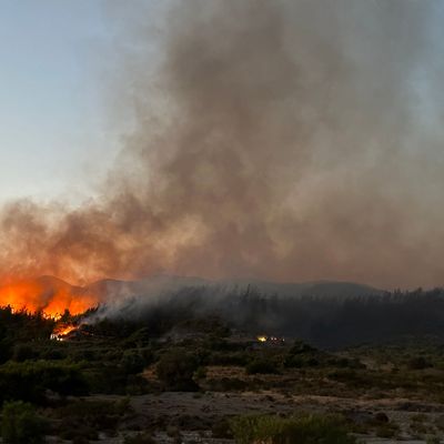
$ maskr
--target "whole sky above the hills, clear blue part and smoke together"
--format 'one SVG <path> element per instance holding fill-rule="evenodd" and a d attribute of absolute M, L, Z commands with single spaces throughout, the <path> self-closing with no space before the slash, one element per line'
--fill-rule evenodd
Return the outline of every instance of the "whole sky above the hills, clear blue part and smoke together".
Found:
<path fill-rule="evenodd" d="M 0 279 L 444 285 L 443 21 L 440 0 L 0 0 Z"/>

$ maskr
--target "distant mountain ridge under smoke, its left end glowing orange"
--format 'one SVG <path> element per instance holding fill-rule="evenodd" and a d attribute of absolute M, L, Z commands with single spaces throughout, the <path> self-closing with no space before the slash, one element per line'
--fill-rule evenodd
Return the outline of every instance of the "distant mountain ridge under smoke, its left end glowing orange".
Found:
<path fill-rule="evenodd" d="M 0 305 L 16 309 L 48 310 L 61 313 L 71 312 L 98 304 L 122 306 L 130 300 L 149 302 L 164 295 L 190 294 L 199 290 L 205 300 L 215 300 L 228 295 L 255 293 L 280 297 L 319 296 L 353 297 L 382 294 L 381 290 L 352 282 L 305 282 L 276 283 L 259 280 L 236 279 L 211 281 L 194 276 L 154 275 L 139 281 L 101 280 L 87 286 L 71 285 L 68 282 L 43 275 L 37 279 L 19 280 L 0 284 Z"/>

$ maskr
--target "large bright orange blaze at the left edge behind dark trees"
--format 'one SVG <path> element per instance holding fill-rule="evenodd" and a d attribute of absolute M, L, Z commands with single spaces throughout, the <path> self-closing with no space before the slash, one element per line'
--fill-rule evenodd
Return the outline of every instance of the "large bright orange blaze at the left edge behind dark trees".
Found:
<path fill-rule="evenodd" d="M 42 311 L 44 315 L 59 319 L 65 310 L 73 315 L 98 305 L 98 297 L 82 287 L 51 276 L 0 282 L 0 306 L 30 312 Z"/>

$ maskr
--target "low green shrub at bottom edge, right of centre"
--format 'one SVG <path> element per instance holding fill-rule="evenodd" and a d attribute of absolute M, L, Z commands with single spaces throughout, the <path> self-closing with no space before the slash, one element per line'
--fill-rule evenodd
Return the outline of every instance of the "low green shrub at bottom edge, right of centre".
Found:
<path fill-rule="evenodd" d="M 290 418 L 279 416 L 241 416 L 231 423 L 235 442 L 251 444 L 353 444 L 343 421 L 329 415 L 301 415 Z"/>

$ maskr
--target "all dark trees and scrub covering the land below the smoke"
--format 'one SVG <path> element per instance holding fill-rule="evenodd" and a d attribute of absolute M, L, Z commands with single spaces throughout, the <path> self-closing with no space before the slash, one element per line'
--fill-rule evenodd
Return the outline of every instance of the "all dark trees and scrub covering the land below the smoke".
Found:
<path fill-rule="evenodd" d="M 441 291 L 395 292 L 360 302 L 276 300 L 251 291 L 232 295 L 226 306 L 204 304 L 199 291 L 181 296 L 132 320 L 99 319 L 97 310 L 89 311 L 84 316 L 99 321 L 82 323 L 67 341 L 50 340 L 57 322 L 41 313 L 0 309 L 3 441 L 42 442 L 47 433 L 73 443 L 118 435 L 122 443 L 151 444 L 158 433 L 179 442 L 188 428 L 213 437 L 234 436 L 240 443 L 270 444 L 349 444 L 354 442 L 352 432 L 430 443 L 443 435 L 444 340 L 436 329 L 444 300 Z M 382 315 L 385 309 L 389 314 Z M 425 326 L 422 316 L 428 310 L 431 324 Z M 266 331 L 264 320 L 276 329 Z M 80 324 L 80 317 L 64 313 L 63 322 Z M 377 329 L 370 329 L 371 322 Z M 274 342 L 255 339 L 258 333 L 285 332 L 301 334 Z M 369 342 L 349 346 L 352 336 Z M 322 346 L 325 343 L 335 347 Z M 194 392 L 185 398 L 199 411 L 182 408 L 171 417 L 157 417 L 155 408 L 144 411 L 143 401 L 134 401 L 150 398 L 155 405 L 164 392 Z M 235 420 L 238 411 L 212 413 L 219 400 L 230 403 L 232 396 L 244 396 L 242 392 L 249 393 L 245 400 L 251 394 L 261 397 L 252 411 L 263 413 L 274 412 L 276 400 L 293 405 L 296 396 L 326 396 L 346 400 L 346 405 L 356 398 L 406 400 L 397 401 L 406 415 L 400 424 L 396 416 L 377 408 L 372 413 L 331 408 L 343 415 L 325 417 L 289 416 L 290 410 L 282 416 Z M 133 397 L 139 395 L 148 397 Z M 317 408 L 324 408 L 322 402 Z M 28 431 L 33 431 L 32 437 Z"/>

